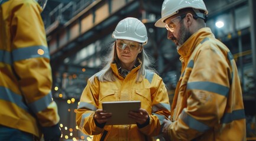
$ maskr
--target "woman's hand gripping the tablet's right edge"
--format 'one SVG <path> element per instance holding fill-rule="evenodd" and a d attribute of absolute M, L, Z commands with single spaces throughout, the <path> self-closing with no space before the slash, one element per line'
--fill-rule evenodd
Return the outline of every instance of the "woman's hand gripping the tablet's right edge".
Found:
<path fill-rule="evenodd" d="M 144 124 L 148 119 L 148 112 L 140 108 L 138 111 L 129 111 L 128 116 L 134 119 L 140 125 Z"/>

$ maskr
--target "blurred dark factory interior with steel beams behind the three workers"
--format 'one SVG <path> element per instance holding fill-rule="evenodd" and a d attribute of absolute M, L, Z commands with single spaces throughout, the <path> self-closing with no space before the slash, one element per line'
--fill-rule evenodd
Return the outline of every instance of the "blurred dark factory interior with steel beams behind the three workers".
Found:
<path fill-rule="evenodd" d="M 238 66 L 247 119 L 247 140 L 256 140 L 256 1 L 204 0 L 208 26 L 231 50 Z M 140 19 L 148 30 L 144 46 L 166 83 L 172 102 L 181 63 L 165 28 L 154 26 L 163 0 L 48 0 L 41 13 L 51 55 L 53 99 L 59 115 L 61 140 L 92 140 L 76 126 L 76 108 L 87 80 L 102 68 L 112 32 L 121 19 Z M 235 136 L 235 135 L 234 135 Z M 157 140 L 157 139 L 156 139 Z"/>

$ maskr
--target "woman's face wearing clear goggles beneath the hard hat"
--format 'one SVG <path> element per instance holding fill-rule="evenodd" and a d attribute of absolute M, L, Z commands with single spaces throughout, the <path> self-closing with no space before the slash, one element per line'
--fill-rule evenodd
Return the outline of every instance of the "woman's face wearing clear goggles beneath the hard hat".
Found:
<path fill-rule="evenodd" d="M 121 62 L 121 67 L 130 70 L 142 51 L 142 45 L 139 42 L 125 39 L 116 40 L 116 53 Z"/>

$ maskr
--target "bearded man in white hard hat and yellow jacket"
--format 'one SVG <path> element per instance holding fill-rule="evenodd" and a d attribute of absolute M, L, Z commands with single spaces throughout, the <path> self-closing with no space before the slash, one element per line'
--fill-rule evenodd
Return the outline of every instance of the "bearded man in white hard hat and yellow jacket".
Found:
<path fill-rule="evenodd" d="M 206 28 L 203 0 L 165 0 L 155 26 L 177 45 L 182 72 L 163 132 L 170 140 L 246 140 L 235 60 Z"/>

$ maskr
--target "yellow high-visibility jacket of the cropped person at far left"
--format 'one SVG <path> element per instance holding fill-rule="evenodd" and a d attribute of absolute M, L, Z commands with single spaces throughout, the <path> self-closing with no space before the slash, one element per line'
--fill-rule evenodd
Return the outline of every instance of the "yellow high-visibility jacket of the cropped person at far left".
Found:
<path fill-rule="evenodd" d="M 59 122 L 41 7 L 34 0 L 0 4 L 0 125 L 40 137 Z"/>

